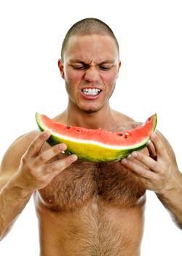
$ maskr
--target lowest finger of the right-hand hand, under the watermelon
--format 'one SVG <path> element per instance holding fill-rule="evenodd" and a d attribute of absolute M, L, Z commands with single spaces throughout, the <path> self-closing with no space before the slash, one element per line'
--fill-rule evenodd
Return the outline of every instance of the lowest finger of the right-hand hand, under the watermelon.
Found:
<path fill-rule="evenodd" d="M 122 159 L 122 164 L 141 177 L 151 179 L 154 176 L 154 173 L 151 172 L 151 170 L 147 170 L 146 168 L 136 164 L 135 162 L 130 161 L 129 159 Z"/>

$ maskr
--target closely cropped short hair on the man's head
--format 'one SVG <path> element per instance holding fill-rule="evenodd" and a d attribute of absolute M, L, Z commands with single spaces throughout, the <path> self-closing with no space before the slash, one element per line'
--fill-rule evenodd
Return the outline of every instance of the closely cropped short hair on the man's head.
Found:
<path fill-rule="evenodd" d="M 71 28 L 66 33 L 66 36 L 63 39 L 63 44 L 61 48 L 61 59 L 63 60 L 63 55 L 66 50 L 66 45 L 68 44 L 68 39 L 71 36 L 75 36 L 75 35 L 84 36 L 84 35 L 90 35 L 90 34 L 100 34 L 103 36 L 108 35 L 112 37 L 114 39 L 114 42 L 116 42 L 116 48 L 119 53 L 119 43 L 114 35 L 114 32 L 111 30 L 111 28 L 102 20 L 99 20 L 97 18 L 84 18 L 74 23 L 74 25 L 71 26 Z"/>

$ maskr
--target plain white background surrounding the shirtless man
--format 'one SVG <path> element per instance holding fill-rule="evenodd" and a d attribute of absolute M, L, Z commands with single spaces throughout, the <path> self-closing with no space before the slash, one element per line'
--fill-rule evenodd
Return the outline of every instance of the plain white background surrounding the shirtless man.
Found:
<path fill-rule="evenodd" d="M 138 121 L 157 112 L 157 129 L 182 169 L 181 12 L 180 0 L 1 1 L 0 158 L 15 138 L 36 128 L 36 111 L 53 117 L 66 108 L 57 65 L 61 42 L 73 23 L 95 17 L 111 26 L 121 49 L 111 106 Z M 181 238 L 154 192 L 148 192 L 141 255 L 180 256 Z M 1 241 L 0 255 L 39 255 L 33 200 Z"/>

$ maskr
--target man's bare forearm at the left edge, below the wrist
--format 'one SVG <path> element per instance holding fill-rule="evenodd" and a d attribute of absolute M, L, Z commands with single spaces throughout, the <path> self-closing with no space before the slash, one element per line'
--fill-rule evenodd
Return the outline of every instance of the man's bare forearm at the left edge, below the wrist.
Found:
<path fill-rule="evenodd" d="M 25 192 L 17 180 L 17 176 L 13 176 L 0 192 L 0 240 L 7 234 L 32 195 Z"/>

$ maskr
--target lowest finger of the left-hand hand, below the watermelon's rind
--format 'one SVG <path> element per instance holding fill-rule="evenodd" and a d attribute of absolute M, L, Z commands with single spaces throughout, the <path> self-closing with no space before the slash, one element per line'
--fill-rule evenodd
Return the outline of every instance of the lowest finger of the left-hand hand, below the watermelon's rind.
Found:
<path fill-rule="evenodd" d="M 45 173 L 60 173 L 60 171 L 66 169 L 69 165 L 75 162 L 78 159 L 75 154 L 71 154 L 71 156 L 65 157 L 58 161 L 52 162 L 47 165 L 45 169 Z"/>

